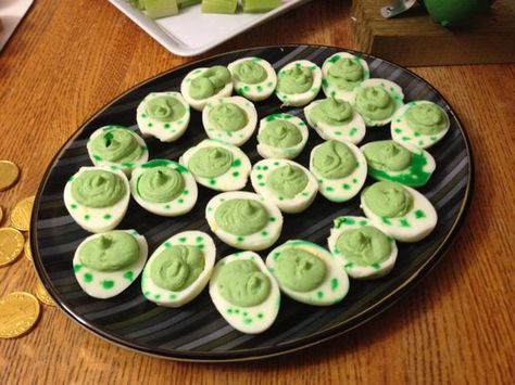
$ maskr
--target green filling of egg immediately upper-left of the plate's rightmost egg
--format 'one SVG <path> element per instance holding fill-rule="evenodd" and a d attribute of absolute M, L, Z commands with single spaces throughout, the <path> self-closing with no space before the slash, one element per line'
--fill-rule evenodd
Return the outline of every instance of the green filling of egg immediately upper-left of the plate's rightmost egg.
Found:
<path fill-rule="evenodd" d="M 393 98 L 380 86 L 360 88 L 355 106 L 367 123 L 387 120 L 397 108 Z"/>

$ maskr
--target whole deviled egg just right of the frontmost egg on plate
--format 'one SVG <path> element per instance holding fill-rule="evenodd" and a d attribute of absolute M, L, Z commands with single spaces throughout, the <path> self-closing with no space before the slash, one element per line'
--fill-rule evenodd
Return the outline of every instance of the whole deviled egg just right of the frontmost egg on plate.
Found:
<path fill-rule="evenodd" d="M 282 293 L 303 304 L 328 306 L 349 292 L 349 277 L 324 247 L 307 241 L 288 241 L 266 257 L 266 267 Z"/>

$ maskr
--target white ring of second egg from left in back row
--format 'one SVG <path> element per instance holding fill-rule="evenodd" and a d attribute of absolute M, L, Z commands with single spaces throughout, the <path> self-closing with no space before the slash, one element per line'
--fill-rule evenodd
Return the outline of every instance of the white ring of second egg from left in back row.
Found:
<path fill-rule="evenodd" d="M 244 81 L 238 80 L 235 77 L 236 67 L 244 62 L 253 61 L 254 63 L 261 65 L 265 73 L 266 78 L 263 81 L 258 84 L 251 85 Z M 230 74 L 233 75 L 233 85 L 238 92 L 238 94 L 253 101 L 253 102 L 261 102 L 265 99 L 268 99 L 275 91 L 277 86 L 277 74 L 275 73 L 274 67 L 261 57 L 250 56 L 250 57 L 242 57 L 233 63 L 230 63 L 227 68 L 229 69 Z"/>

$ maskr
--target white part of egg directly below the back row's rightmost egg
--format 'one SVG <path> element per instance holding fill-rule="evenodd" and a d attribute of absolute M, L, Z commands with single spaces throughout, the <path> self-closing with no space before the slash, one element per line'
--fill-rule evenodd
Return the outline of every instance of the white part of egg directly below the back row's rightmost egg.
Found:
<path fill-rule="evenodd" d="M 352 118 L 342 125 L 332 126 L 325 121 L 315 123 L 311 118 L 311 113 L 317 104 L 322 103 L 322 100 L 315 100 L 310 105 L 304 107 L 304 115 L 307 124 L 313 127 L 318 136 L 324 140 L 338 140 L 347 141 L 354 144 L 360 143 L 366 133 L 366 125 L 363 117 L 352 107 Z"/>

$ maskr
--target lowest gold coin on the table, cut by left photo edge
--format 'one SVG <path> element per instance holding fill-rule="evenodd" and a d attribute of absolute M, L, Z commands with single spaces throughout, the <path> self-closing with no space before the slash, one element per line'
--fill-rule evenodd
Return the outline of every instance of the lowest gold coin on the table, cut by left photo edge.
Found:
<path fill-rule="evenodd" d="M 0 299 L 0 338 L 27 333 L 39 318 L 40 306 L 28 293 L 15 292 Z"/>

